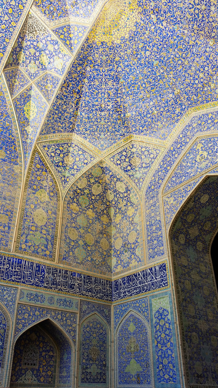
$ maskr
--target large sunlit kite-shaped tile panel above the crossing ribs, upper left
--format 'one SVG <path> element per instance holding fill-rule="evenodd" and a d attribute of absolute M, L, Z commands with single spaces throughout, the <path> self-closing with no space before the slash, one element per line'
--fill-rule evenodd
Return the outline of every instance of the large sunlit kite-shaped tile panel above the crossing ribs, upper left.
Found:
<path fill-rule="evenodd" d="M 29 13 L 5 68 L 20 66 L 34 80 L 46 70 L 62 76 L 70 59 L 64 47 Z"/>

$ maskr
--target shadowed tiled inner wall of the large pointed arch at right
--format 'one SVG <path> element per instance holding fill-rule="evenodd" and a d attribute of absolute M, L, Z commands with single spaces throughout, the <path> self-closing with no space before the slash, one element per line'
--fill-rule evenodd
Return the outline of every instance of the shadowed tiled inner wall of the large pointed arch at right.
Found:
<path fill-rule="evenodd" d="M 218 227 L 218 177 L 205 178 L 169 233 L 187 386 L 218 386 L 218 307 L 209 253 Z"/>

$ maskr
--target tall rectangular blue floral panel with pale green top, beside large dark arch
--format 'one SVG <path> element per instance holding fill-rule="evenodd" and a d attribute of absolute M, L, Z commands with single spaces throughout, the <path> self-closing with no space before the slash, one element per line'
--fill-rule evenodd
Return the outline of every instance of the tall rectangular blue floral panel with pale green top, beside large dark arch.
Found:
<path fill-rule="evenodd" d="M 171 295 L 150 298 L 154 380 L 157 387 L 180 387 Z"/>

